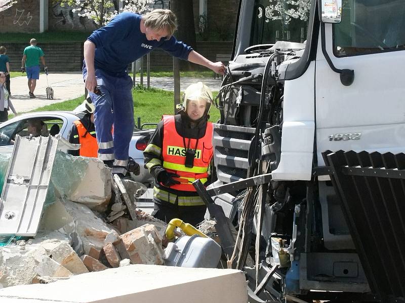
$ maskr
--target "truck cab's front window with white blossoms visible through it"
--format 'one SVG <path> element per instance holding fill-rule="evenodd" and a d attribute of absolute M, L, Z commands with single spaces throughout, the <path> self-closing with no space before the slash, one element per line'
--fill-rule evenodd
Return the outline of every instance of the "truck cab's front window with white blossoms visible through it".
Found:
<path fill-rule="evenodd" d="M 304 42 L 311 0 L 256 0 L 250 45 Z"/>

